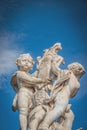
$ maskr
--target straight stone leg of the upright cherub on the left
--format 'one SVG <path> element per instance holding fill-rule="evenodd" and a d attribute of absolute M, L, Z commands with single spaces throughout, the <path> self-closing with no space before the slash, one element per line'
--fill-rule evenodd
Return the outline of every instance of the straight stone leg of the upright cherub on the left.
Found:
<path fill-rule="evenodd" d="M 29 114 L 29 105 L 31 103 L 30 96 L 26 93 L 18 94 L 19 121 L 21 130 L 27 129 L 27 117 Z"/>

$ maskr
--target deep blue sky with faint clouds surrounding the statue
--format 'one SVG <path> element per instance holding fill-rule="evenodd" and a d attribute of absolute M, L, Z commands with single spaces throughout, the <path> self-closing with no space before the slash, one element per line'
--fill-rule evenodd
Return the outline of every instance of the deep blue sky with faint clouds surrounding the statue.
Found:
<path fill-rule="evenodd" d="M 16 58 L 30 53 L 36 60 L 55 42 L 62 43 L 59 54 L 66 63 L 62 68 L 78 61 L 87 70 L 86 0 L 0 1 L 0 130 L 19 129 L 18 112 L 11 110 L 15 92 L 10 78 L 17 70 Z M 87 74 L 81 79 L 77 96 L 70 101 L 75 113 L 73 130 L 87 130 L 86 79 Z"/>

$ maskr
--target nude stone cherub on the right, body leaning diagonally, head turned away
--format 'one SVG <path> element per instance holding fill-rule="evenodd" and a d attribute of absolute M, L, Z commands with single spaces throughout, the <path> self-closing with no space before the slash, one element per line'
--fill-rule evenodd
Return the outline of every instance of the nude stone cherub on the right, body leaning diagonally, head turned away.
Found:
<path fill-rule="evenodd" d="M 69 99 L 74 97 L 80 88 L 79 79 L 85 73 L 83 66 L 75 62 L 68 65 L 68 71 L 69 79 L 61 84 L 62 89 L 58 91 L 55 96 L 54 108 L 46 114 L 44 120 L 39 126 L 39 130 L 49 130 L 51 123 L 64 113 Z M 56 82 L 54 89 L 55 87 L 57 88 L 57 84 L 58 82 Z"/>

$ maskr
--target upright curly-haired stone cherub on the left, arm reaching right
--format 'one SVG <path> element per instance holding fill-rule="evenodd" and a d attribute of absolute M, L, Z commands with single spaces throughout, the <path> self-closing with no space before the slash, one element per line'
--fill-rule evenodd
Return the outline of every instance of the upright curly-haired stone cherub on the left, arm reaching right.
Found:
<path fill-rule="evenodd" d="M 17 94 L 13 101 L 13 110 L 19 110 L 19 120 L 21 130 L 27 129 L 27 118 L 29 115 L 29 108 L 31 107 L 31 98 L 35 92 L 35 87 L 39 84 L 45 84 L 46 81 L 40 78 L 31 76 L 28 71 L 33 67 L 34 61 L 30 54 L 22 54 L 16 60 L 16 65 L 19 69 L 11 79 L 13 88 Z M 49 81 L 48 81 L 49 82 Z"/>

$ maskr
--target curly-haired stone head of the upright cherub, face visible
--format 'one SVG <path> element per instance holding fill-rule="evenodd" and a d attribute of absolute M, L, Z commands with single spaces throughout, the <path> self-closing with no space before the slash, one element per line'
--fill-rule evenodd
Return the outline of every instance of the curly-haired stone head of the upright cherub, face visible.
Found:
<path fill-rule="evenodd" d="M 19 58 L 17 58 L 16 60 L 16 65 L 18 66 L 18 69 L 22 71 L 32 70 L 33 64 L 34 64 L 33 58 L 28 53 L 21 54 Z"/>

